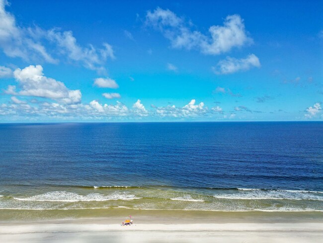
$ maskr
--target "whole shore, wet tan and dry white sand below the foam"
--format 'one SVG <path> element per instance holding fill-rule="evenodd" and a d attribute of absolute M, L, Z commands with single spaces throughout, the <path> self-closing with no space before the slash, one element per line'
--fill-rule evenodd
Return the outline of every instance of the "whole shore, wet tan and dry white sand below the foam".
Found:
<path fill-rule="evenodd" d="M 323 212 L 318 211 L 24 211 L 0 210 L 0 242 L 317 243 L 323 239 Z M 128 215 L 133 225 L 121 226 Z M 13 218 L 4 220 L 6 216 Z"/>

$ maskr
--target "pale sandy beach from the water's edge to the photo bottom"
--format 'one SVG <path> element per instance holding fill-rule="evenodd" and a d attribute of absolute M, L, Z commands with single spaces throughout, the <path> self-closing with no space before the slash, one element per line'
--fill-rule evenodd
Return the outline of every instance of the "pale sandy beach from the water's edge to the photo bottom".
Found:
<path fill-rule="evenodd" d="M 132 226 L 119 217 L 7 222 L 0 224 L 0 242 L 264 242 L 317 243 L 323 239 L 322 215 L 284 213 L 211 213 L 190 217 L 145 213 Z M 206 213 L 205 213 L 206 214 Z M 321 213 L 322 214 L 322 213 Z"/>

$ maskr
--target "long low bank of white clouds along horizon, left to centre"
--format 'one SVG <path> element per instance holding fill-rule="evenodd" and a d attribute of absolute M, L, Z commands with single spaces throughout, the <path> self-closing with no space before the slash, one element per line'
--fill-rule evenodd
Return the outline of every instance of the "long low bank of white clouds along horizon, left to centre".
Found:
<path fill-rule="evenodd" d="M 28 101 L 29 104 L 26 102 Z M 66 119 L 78 120 L 102 120 L 102 119 L 188 119 L 209 117 L 215 114 L 223 114 L 221 107 L 213 107 L 208 110 L 203 102 L 196 103 L 191 100 L 183 107 L 168 105 L 166 107 L 151 106 L 152 110 L 147 110 L 141 100 L 137 100 L 129 109 L 121 102 L 115 104 L 102 104 L 93 100 L 87 104 L 66 104 L 57 102 L 31 102 L 30 100 L 21 101 L 16 97 L 11 97 L 8 104 L 0 104 L 1 116 L 17 116 L 23 119 L 40 121 L 42 118 L 57 118 L 60 121 Z"/>

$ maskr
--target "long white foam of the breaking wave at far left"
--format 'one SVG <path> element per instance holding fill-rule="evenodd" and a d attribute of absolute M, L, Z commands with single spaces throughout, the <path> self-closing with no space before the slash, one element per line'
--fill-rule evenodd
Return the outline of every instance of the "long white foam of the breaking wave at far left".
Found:
<path fill-rule="evenodd" d="M 109 201 L 109 200 L 133 200 L 141 199 L 133 194 L 114 192 L 109 195 L 98 193 L 90 193 L 88 195 L 80 195 L 73 192 L 57 191 L 48 192 L 27 198 L 14 198 L 19 201 L 48 201 L 48 202 L 79 202 L 79 201 Z"/>

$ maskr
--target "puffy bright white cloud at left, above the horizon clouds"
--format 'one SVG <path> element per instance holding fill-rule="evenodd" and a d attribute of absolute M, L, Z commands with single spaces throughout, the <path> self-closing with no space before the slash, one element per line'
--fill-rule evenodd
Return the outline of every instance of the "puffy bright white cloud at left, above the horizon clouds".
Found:
<path fill-rule="evenodd" d="M 80 90 L 69 90 L 64 83 L 47 78 L 43 74 L 41 65 L 30 65 L 24 69 L 17 68 L 13 75 L 20 90 L 16 91 L 16 86 L 9 85 L 5 91 L 6 94 L 43 97 L 66 104 L 81 102 Z"/>

